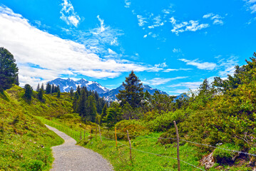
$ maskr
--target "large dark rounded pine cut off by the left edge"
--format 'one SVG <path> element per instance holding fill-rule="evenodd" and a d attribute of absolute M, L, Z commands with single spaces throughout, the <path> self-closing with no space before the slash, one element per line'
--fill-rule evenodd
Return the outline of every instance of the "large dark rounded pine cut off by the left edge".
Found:
<path fill-rule="evenodd" d="M 0 48 L 0 91 L 11 88 L 18 76 L 18 67 L 14 56 L 6 49 Z"/>

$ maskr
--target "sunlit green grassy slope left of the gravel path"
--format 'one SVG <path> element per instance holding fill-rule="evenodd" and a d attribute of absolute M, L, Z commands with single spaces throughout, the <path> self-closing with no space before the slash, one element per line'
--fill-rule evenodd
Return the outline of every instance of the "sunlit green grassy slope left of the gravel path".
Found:
<path fill-rule="evenodd" d="M 0 95 L 0 170 L 49 170 L 53 162 L 51 147 L 63 140 L 32 114 L 60 112 L 33 100 L 35 108 L 26 103 L 23 94 L 22 88 L 14 86 Z"/>

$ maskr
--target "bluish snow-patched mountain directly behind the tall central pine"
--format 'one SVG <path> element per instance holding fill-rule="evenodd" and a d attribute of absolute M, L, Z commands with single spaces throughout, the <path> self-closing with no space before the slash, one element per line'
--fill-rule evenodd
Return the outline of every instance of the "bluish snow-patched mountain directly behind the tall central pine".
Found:
<path fill-rule="evenodd" d="M 150 93 L 150 95 L 153 95 L 155 93 L 156 88 L 151 88 L 148 85 L 143 85 L 143 92 L 145 92 L 146 90 L 148 90 L 148 93 Z M 116 99 L 116 95 L 119 93 L 119 90 L 124 90 L 125 88 L 123 87 L 123 85 L 119 86 L 118 88 L 112 89 L 106 93 L 101 93 L 99 94 L 101 97 L 104 97 L 106 100 L 108 101 L 114 101 L 117 100 Z M 165 94 L 168 95 L 168 93 L 162 91 L 162 90 L 158 90 L 160 94 Z"/>

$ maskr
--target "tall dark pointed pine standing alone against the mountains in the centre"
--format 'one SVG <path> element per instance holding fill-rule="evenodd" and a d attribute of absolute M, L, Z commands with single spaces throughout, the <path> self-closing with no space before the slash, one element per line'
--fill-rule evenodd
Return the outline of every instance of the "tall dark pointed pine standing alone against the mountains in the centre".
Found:
<path fill-rule="evenodd" d="M 142 83 L 133 71 L 126 77 L 126 83 L 123 82 L 123 87 L 125 90 L 119 90 L 118 95 L 116 95 L 116 98 L 121 100 L 121 106 L 127 102 L 132 108 L 140 107 L 144 93 Z"/>

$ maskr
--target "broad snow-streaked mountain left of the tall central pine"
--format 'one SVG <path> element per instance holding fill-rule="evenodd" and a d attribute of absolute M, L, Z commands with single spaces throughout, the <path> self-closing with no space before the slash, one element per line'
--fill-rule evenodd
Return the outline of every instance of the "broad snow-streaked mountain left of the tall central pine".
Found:
<path fill-rule="evenodd" d="M 56 86 L 60 86 L 61 92 L 69 92 L 71 90 L 71 87 L 73 90 L 76 91 L 77 86 L 80 87 L 86 87 L 87 90 L 94 90 L 97 91 L 97 93 L 106 93 L 110 89 L 101 86 L 101 84 L 97 83 L 96 81 L 86 81 L 86 79 L 81 79 L 79 81 L 73 81 L 72 79 L 62 79 L 62 78 L 56 78 L 53 81 L 49 81 L 50 84 L 54 84 Z"/>

